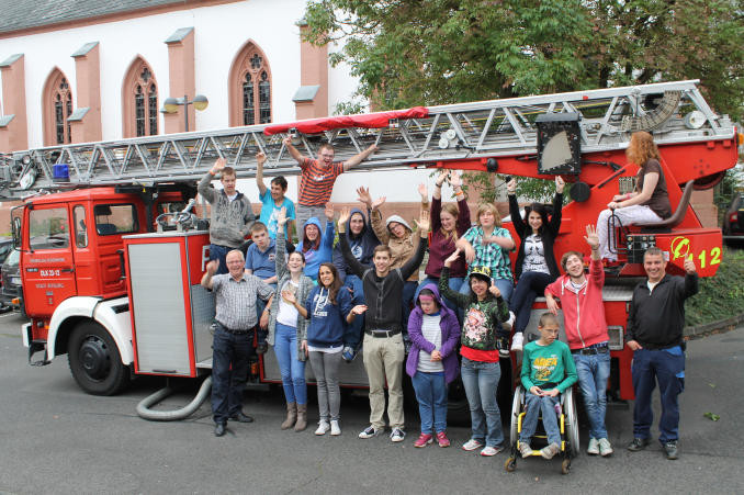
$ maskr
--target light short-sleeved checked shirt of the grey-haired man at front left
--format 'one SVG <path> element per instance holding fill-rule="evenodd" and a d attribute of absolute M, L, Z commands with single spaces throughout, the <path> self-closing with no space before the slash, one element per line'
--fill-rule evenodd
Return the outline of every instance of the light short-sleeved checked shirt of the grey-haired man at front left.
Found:
<path fill-rule="evenodd" d="M 233 275 L 224 273 L 212 277 L 212 291 L 216 295 L 217 314 L 215 319 L 232 330 L 248 330 L 256 326 L 256 299 L 268 301 L 273 289 L 256 275 L 243 274 L 235 281 Z"/>

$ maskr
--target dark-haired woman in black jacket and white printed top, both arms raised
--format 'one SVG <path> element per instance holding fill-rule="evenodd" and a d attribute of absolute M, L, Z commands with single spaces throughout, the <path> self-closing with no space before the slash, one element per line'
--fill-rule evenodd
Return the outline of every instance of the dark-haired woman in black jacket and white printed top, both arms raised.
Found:
<path fill-rule="evenodd" d="M 534 299 L 542 295 L 548 284 L 561 274 L 553 254 L 553 243 L 561 228 L 564 185 L 565 182 L 561 176 L 555 176 L 553 215 L 550 221 L 548 221 L 545 205 L 532 203 L 531 206 L 525 209 L 527 215 L 527 222 L 525 222 L 519 214 L 519 204 L 515 194 L 517 181 L 511 179 L 506 184 L 511 224 L 520 238 L 519 254 L 514 266 L 517 288 L 509 302 L 509 310 L 517 317 L 511 338 L 511 351 L 522 350 L 522 333 L 530 322 Z"/>

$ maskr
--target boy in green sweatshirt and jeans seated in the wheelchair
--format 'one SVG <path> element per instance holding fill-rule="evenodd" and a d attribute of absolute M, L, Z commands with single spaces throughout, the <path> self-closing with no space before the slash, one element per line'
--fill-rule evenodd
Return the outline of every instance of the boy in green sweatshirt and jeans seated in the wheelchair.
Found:
<path fill-rule="evenodd" d="M 555 406 L 560 404 L 560 394 L 576 383 L 577 375 L 571 349 L 557 340 L 559 328 L 557 317 L 543 313 L 538 324 L 540 338 L 525 346 L 521 382 L 526 390 L 526 413 L 519 435 L 522 458 L 532 454 L 530 440 L 541 412 L 548 446 L 540 450 L 540 455 L 552 459 L 561 451 L 561 429 Z"/>

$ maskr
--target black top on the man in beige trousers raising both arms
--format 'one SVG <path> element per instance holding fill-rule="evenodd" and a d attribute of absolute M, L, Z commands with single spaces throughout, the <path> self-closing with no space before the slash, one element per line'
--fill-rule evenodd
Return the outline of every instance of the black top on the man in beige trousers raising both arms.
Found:
<path fill-rule="evenodd" d="M 348 266 L 348 273 L 353 273 L 362 280 L 367 313 L 364 313 L 364 328 L 368 330 L 402 330 L 403 329 L 403 286 L 424 261 L 427 239 L 418 243 L 418 249 L 403 267 L 391 270 L 380 278 L 374 265 L 360 263 L 351 254 L 349 240 L 346 236 L 338 236 L 341 254 Z"/>

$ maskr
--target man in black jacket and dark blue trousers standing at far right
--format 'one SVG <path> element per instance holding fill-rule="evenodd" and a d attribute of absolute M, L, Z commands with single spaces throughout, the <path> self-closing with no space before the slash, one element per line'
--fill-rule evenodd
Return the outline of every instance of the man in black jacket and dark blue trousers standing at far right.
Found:
<path fill-rule="evenodd" d="M 651 394 L 658 382 L 662 398 L 660 437 L 667 459 L 677 459 L 679 438 L 678 395 L 685 390 L 685 300 L 698 293 L 698 273 L 692 258 L 685 260 L 685 278 L 666 274 L 664 252 L 653 247 L 643 255 L 649 280 L 633 290 L 625 339 L 633 350 L 633 441 L 635 452 L 649 445 L 653 412 Z"/>

